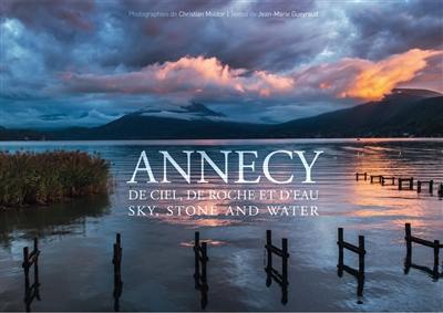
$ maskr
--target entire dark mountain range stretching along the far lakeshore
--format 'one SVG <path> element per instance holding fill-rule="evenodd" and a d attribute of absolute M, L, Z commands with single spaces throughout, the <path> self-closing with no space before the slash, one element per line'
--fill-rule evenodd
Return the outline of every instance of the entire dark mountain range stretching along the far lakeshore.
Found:
<path fill-rule="evenodd" d="M 442 94 L 396 88 L 379 102 L 275 125 L 229 122 L 223 114 L 193 103 L 178 108 L 141 109 L 92 128 L 37 132 L 0 127 L 0 140 L 410 136 L 443 137 Z"/>

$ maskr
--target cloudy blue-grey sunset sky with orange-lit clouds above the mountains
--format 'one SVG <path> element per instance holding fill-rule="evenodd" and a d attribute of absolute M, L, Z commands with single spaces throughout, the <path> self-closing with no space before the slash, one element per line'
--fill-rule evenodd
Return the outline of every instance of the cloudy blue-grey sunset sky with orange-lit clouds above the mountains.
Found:
<path fill-rule="evenodd" d="M 437 0 L 2 0 L 0 12 L 3 127 L 193 118 L 195 103 L 213 119 L 280 123 L 395 87 L 443 92 Z"/>

